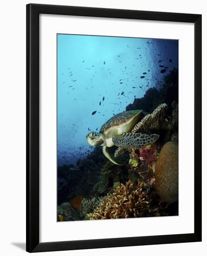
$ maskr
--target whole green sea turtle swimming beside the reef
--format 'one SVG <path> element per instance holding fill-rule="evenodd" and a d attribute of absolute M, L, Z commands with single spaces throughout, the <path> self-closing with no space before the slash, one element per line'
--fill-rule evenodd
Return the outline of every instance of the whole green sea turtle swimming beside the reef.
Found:
<path fill-rule="evenodd" d="M 103 146 L 103 154 L 114 164 L 124 165 L 111 153 L 114 145 L 119 148 L 136 149 L 154 143 L 159 135 L 130 133 L 139 120 L 142 110 L 129 110 L 114 115 L 100 128 L 100 132 L 90 132 L 86 138 L 92 146 Z"/>

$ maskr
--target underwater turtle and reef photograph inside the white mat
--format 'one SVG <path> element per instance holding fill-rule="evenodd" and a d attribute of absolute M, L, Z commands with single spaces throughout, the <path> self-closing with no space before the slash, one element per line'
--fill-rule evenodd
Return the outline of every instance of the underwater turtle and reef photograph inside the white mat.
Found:
<path fill-rule="evenodd" d="M 57 34 L 57 221 L 179 215 L 178 40 Z"/>

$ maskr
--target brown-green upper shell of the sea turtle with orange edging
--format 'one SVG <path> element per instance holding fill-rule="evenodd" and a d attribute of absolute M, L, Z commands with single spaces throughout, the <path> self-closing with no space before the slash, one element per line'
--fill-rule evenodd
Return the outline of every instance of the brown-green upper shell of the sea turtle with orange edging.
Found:
<path fill-rule="evenodd" d="M 100 128 L 100 133 L 104 134 L 108 132 L 111 128 L 118 128 L 123 124 L 126 124 L 128 121 L 131 121 L 137 115 L 139 115 L 142 110 L 129 110 L 111 117 L 108 121 L 106 121 Z"/>

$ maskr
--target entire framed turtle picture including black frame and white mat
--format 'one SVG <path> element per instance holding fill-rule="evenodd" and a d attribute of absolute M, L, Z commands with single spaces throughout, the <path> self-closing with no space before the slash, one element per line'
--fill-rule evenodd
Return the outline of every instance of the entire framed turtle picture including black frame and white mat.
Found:
<path fill-rule="evenodd" d="M 27 5 L 27 251 L 201 241 L 201 15 Z"/>

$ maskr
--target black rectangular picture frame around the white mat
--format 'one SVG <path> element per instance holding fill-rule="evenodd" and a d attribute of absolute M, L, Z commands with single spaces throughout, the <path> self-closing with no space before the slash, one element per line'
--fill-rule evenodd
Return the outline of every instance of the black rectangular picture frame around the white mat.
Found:
<path fill-rule="evenodd" d="M 39 242 L 39 14 L 194 23 L 194 233 L 66 242 Z M 27 5 L 27 251 L 43 252 L 201 241 L 201 15 Z"/>

